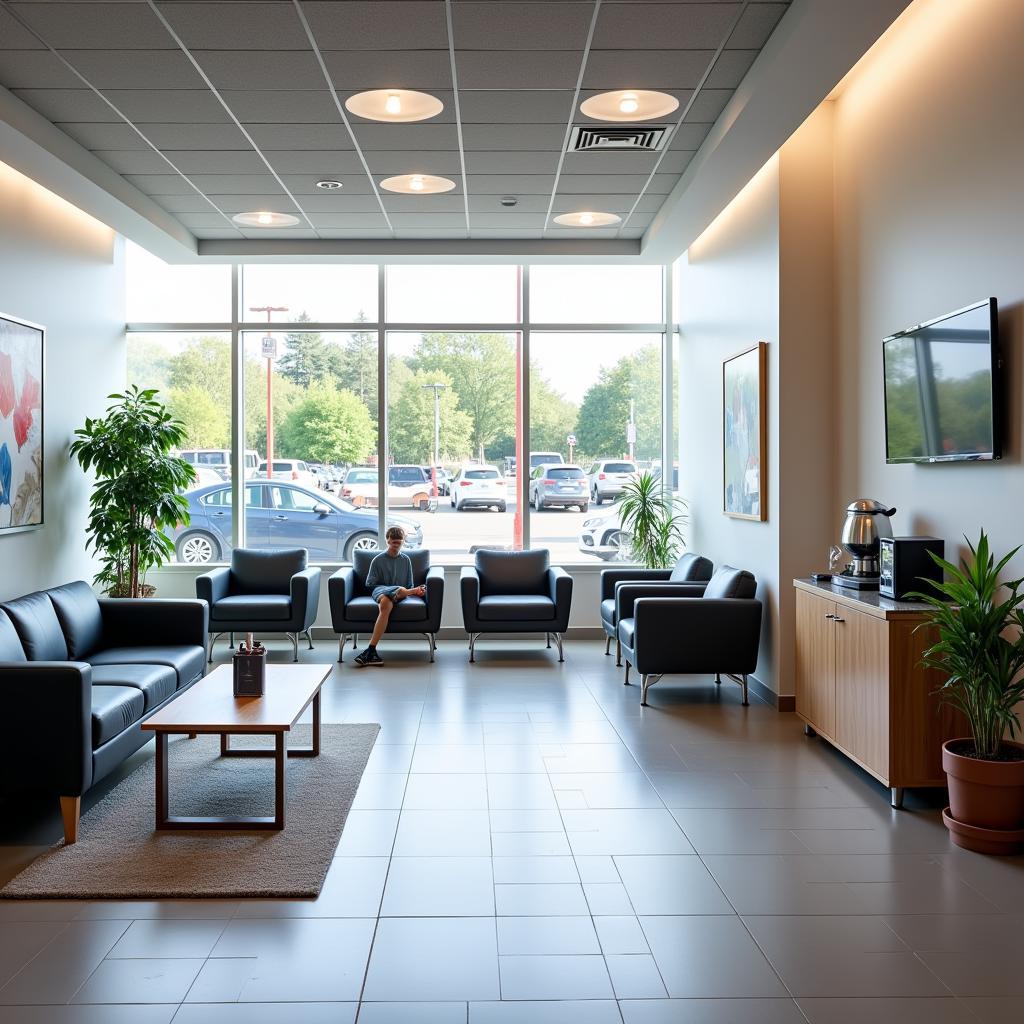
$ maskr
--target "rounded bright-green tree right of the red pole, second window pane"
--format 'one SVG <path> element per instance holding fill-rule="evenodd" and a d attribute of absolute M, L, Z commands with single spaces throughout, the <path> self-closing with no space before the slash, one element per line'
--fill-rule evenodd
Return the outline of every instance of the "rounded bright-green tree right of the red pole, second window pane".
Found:
<path fill-rule="evenodd" d="M 355 394 L 321 381 L 288 413 L 275 454 L 312 462 L 365 462 L 375 434 L 376 426 Z"/>

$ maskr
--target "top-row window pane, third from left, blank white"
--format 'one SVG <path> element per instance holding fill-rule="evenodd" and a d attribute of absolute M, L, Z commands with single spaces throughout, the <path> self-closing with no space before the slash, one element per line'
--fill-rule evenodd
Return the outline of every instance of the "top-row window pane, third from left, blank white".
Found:
<path fill-rule="evenodd" d="M 387 318 L 396 324 L 511 324 L 517 266 L 389 266 Z"/>

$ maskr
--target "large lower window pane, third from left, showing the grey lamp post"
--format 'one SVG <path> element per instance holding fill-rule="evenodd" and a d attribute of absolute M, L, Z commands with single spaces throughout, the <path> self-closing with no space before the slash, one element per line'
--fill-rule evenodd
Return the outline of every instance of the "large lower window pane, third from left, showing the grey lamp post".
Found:
<path fill-rule="evenodd" d="M 388 335 L 388 521 L 437 564 L 521 546 L 514 475 L 518 336 Z"/>

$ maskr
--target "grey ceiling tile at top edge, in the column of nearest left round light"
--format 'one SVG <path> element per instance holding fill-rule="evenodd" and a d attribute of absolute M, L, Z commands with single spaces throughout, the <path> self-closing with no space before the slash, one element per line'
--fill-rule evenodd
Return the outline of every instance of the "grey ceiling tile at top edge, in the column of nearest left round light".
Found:
<path fill-rule="evenodd" d="M 323 50 L 447 49 L 441 0 L 373 3 L 305 0 L 302 9 Z"/>

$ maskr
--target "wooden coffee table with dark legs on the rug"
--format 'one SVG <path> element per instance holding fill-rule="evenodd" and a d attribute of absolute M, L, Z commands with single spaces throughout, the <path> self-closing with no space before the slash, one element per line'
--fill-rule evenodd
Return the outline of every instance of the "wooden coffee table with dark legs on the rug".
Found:
<path fill-rule="evenodd" d="M 321 687 L 331 675 L 330 665 L 268 665 L 261 697 L 236 697 L 231 667 L 222 665 L 175 697 L 142 723 L 157 736 L 157 828 L 285 827 L 288 758 L 314 758 L 321 745 Z M 288 733 L 302 713 L 313 706 L 310 746 L 288 749 Z M 174 734 L 218 733 L 224 758 L 273 758 L 273 817 L 184 817 L 168 814 L 167 737 Z M 273 750 L 231 750 L 232 734 L 273 736 Z"/>

